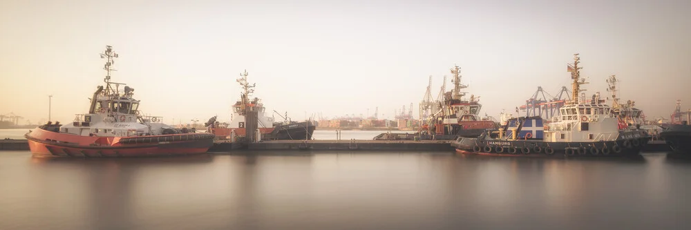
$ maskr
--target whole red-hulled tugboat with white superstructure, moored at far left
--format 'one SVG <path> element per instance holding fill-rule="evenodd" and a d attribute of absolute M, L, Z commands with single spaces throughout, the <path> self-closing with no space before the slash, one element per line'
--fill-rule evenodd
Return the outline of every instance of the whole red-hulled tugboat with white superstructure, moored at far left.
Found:
<path fill-rule="evenodd" d="M 111 46 L 106 59 L 105 86 L 98 86 L 86 114 L 61 125 L 48 122 L 24 135 L 35 157 L 138 157 L 206 153 L 214 135 L 177 129 L 162 123 L 162 117 L 144 116 L 133 88 L 111 82 Z M 120 90 L 120 86 L 124 86 Z"/>

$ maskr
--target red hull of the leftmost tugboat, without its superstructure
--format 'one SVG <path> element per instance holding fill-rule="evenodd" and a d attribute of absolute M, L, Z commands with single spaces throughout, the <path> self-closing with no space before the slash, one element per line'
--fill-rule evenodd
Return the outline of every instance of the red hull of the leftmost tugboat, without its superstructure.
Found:
<path fill-rule="evenodd" d="M 214 136 L 206 133 L 138 137 L 88 137 L 44 131 L 25 135 L 35 157 L 147 157 L 206 153 Z"/>

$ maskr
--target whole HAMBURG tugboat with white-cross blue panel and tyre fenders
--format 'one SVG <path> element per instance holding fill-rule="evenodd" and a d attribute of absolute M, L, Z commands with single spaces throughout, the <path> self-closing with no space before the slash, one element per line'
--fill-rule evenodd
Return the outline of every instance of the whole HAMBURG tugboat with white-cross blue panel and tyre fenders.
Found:
<path fill-rule="evenodd" d="M 580 85 L 580 57 L 567 70 L 573 79 L 571 101 L 560 108 L 560 115 L 547 126 L 540 117 L 519 117 L 500 128 L 498 138 L 483 133 L 477 138 L 459 137 L 453 145 L 457 153 L 512 156 L 604 156 L 637 155 L 650 140 L 645 131 L 620 129 L 618 118 L 600 99 L 600 93 L 587 101 Z"/>

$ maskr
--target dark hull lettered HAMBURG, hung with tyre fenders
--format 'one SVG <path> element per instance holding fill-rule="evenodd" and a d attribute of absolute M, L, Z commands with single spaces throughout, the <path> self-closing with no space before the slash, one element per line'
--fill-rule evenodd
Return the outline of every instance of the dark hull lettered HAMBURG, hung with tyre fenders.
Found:
<path fill-rule="evenodd" d="M 542 140 L 482 140 L 459 137 L 457 153 L 509 157 L 616 157 L 641 153 L 650 137 L 632 132 L 607 142 L 543 142 Z"/>

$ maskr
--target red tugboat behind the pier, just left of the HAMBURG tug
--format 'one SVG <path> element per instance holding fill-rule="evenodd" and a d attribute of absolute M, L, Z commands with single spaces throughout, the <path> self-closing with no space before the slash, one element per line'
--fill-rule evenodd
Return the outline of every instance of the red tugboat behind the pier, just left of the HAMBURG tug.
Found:
<path fill-rule="evenodd" d="M 480 98 L 471 95 L 465 98 L 461 92 L 468 86 L 461 84 L 460 68 L 451 69 L 454 88 L 444 92 L 444 99 L 435 106 L 436 113 L 422 121 L 416 133 L 382 133 L 374 140 L 455 140 L 457 137 L 477 137 L 488 128 L 498 128 L 497 122 L 479 116 L 482 104 Z M 442 87 L 444 88 L 444 87 Z M 422 119 L 422 117 L 421 117 Z"/>

